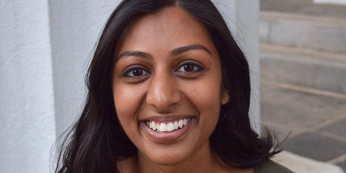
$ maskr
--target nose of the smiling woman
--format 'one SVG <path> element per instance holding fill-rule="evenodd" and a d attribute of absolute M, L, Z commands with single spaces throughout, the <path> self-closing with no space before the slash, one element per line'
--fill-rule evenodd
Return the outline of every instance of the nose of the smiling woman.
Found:
<path fill-rule="evenodd" d="M 153 105 L 158 112 L 162 112 L 170 111 L 173 104 L 179 103 L 180 100 L 181 96 L 174 76 L 167 72 L 157 72 L 152 76 L 146 95 L 147 103 Z"/>

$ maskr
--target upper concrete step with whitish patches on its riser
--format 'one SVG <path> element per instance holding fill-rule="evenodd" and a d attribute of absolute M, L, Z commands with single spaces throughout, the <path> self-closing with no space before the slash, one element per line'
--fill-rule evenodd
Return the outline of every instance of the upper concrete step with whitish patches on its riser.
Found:
<path fill-rule="evenodd" d="M 344 13 L 346 16 L 346 8 Z M 261 10 L 260 41 L 267 44 L 346 53 L 346 19 Z"/>

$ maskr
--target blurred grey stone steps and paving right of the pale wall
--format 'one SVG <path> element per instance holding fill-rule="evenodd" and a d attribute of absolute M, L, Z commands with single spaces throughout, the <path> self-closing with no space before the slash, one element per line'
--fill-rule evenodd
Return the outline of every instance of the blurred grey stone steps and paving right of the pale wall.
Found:
<path fill-rule="evenodd" d="M 291 133 L 285 150 L 346 170 L 346 6 L 260 4 L 262 123 Z"/>

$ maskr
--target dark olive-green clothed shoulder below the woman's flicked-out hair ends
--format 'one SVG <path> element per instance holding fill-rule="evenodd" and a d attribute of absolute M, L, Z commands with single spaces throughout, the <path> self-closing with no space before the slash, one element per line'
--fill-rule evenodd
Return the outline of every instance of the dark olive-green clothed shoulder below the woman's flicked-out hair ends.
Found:
<path fill-rule="evenodd" d="M 255 167 L 255 173 L 294 173 L 285 166 L 271 160 L 266 160 Z"/>

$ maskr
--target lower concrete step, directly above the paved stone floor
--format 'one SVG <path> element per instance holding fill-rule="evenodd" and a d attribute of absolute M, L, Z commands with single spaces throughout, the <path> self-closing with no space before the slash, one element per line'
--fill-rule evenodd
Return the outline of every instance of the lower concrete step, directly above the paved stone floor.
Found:
<path fill-rule="evenodd" d="M 260 52 L 262 79 L 346 94 L 346 54 L 264 43 Z"/>

